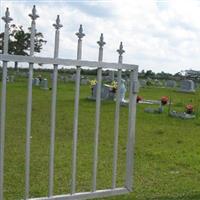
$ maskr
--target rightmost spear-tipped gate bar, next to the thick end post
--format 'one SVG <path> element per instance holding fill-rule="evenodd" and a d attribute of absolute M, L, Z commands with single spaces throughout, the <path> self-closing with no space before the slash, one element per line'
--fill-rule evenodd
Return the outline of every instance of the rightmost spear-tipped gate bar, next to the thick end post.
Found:
<path fill-rule="evenodd" d="M 122 54 L 125 52 L 123 50 L 122 42 L 120 47 L 117 50 L 119 53 L 118 63 L 122 64 Z M 113 179 L 112 179 L 112 188 L 116 187 L 116 177 L 117 177 L 117 158 L 118 158 L 118 138 L 119 138 L 119 113 L 120 113 L 120 90 L 121 90 L 121 76 L 122 70 L 118 70 L 118 89 L 117 89 L 117 98 L 116 98 L 116 108 L 115 108 L 115 126 L 114 126 L 114 158 L 113 158 Z"/>

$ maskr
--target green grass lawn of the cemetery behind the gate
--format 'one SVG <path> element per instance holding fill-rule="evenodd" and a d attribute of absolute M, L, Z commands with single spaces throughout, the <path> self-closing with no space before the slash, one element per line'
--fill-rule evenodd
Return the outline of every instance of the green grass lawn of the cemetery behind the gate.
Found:
<path fill-rule="evenodd" d="M 87 100 L 89 86 L 81 86 L 77 191 L 91 190 L 95 102 Z M 144 88 L 145 99 L 171 96 L 173 109 L 198 106 L 200 93 L 178 93 L 165 88 Z M 27 83 L 8 83 L 5 145 L 5 199 L 24 195 Z M 31 134 L 31 197 L 46 196 L 50 143 L 51 91 L 33 88 Z M 199 200 L 200 119 L 181 120 L 163 114 L 144 113 L 149 105 L 137 105 L 134 192 L 108 200 Z M 115 103 L 102 102 L 97 189 L 111 187 Z M 54 194 L 70 192 L 73 138 L 74 84 L 59 83 L 55 141 Z M 125 176 L 128 108 L 120 110 L 117 186 Z"/>

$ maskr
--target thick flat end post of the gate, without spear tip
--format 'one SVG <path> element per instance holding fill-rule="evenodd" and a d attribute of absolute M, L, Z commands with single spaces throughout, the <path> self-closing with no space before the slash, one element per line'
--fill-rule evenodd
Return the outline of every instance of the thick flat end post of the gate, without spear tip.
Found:
<path fill-rule="evenodd" d="M 132 191 L 133 186 L 133 162 L 134 162 L 134 144 L 135 144 L 135 124 L 136 124 L 136 99 L 137 91 L 135 84 L 138 82 L 138 69 L 130 73 L 130 93 L 129 93 L 129 126 L 126 155 L 126 181 L 125 187 Z"/>

